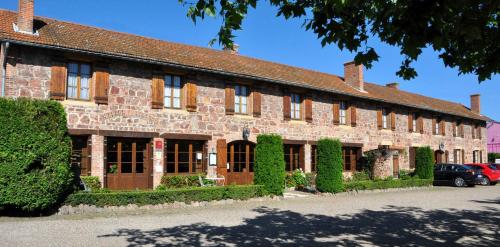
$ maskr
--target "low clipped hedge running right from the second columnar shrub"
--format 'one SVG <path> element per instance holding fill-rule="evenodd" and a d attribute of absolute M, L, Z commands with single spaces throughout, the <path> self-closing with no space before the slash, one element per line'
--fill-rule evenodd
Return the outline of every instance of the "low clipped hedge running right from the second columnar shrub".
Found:
<path fill-rule="evenodd" d="M 357 190 L 376 190 L 376 189 L 390 189 L 390 188 L 408 188 L 408 187 L 423 187 L 431 186 L 432 179 L 392 179 L 392 180 L 366 180 L 366 181 L 352 181 L 344 184 L 345 191 Z"/>

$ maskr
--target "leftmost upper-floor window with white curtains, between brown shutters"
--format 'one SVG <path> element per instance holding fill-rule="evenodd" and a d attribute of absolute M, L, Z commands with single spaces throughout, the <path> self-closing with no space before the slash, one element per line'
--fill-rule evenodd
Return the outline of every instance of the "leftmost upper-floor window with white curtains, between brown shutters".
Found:
<path fill-rule="evenodd" d="M 90 100 L 90 81 L 92 71 L 90 64 L 68 63 L 68 99 Z"/>

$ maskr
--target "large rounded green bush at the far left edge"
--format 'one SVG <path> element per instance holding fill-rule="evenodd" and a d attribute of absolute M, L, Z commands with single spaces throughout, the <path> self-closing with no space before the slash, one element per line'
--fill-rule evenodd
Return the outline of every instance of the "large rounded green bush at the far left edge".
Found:
<path fill-rule="evenodd" d="M 59 102 L 0 98 L 0 208 L 47 210 L 75 188 L 67 133 Z"/>

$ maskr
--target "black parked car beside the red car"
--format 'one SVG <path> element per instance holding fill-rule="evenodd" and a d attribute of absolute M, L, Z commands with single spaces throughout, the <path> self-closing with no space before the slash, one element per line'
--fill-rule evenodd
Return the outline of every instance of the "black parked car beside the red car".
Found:
<path fill-rule="evenodd" d="M 434 168 L 434 183 L 447 183 L 456 187 L 473 187 L 483 175 L 472 167 L 459 164 L 437 164 Z"/>

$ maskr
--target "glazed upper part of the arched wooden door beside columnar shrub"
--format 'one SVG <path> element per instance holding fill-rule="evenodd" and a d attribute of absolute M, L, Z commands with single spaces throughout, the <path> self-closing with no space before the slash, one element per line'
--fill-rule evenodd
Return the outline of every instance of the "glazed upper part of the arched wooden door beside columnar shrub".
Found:
<path fill-rule="evenodd" d="M 227 145 L 228 172 L 253 172 L 255 144 L 248 141 L 234 141 Z"/>

